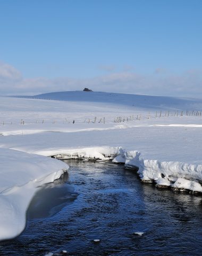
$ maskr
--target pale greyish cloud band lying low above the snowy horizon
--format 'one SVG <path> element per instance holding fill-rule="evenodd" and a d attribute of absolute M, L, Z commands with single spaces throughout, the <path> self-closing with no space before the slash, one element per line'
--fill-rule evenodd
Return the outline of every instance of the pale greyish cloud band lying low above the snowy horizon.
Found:
<path fill-rule="evenodd" d="M 54 91 L 75 91 L 88 87 L 93 91 L 173 95 L 202 98 L 202 71 L 187 70 L 176 75 L 141 75 L 131 71 L 112 72 L 85 79 L 70 77 L 23 78 L 11 65 L 0 63 L 1 95 L 34 95 Z"/>

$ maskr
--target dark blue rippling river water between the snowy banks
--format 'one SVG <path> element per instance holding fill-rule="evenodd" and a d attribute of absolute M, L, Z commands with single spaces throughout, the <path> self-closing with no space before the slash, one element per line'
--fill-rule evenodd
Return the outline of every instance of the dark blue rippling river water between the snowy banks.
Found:
<path fill-rule="evenodd" d="M 68 174 L 37 193 L 26 229 L 0 242 L 0 255 L 202 255 L 201 196 L 141 183 L 123 165 L 66 162 Z"/>

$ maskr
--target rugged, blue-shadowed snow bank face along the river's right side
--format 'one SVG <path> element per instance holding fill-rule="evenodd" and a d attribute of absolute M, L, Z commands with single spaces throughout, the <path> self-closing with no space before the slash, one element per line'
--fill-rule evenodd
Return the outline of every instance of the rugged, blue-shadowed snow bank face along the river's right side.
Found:
<path fill-rule="evenodd" d="M 138 167 L 138 174 L 144 182 L 155 182 L 158 186 L 188 189 L 202 192 L 202 165 L 181 162 L 159 162 L 144 160 L 139 151 L 120 149 L 113 161 L 125 163 L 127 167 Z"/>

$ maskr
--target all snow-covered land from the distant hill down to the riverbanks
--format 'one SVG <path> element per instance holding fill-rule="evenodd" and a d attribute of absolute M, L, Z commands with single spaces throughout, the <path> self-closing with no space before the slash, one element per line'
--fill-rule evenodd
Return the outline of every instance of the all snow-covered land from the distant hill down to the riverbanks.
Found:
<path fill-rule="evenodd" d="M 0 98 L 0 239 L 20 234 L 36 190 L 68 169 L 47 156 L 113 159 L 138 166 L 142 181 L 202 192 L 202 100 L 80 91 L 30 98 Z"/>

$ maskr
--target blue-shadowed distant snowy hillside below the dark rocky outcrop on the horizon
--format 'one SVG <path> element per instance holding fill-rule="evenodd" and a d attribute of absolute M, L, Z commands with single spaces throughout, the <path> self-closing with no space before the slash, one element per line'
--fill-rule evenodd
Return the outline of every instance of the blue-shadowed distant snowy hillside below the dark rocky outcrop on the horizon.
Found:
<path fill-rule="evenodd" d="M 51 92 L 35 95 L 37 99 L 51 99 L 63 101 L 86 101 L 86 102 L 106 102 L 119 105 L 136 106 L 140 108 L 152 109 L 202 109 L 202 99 L 163 97 L 153 95 L 108 93 L 108 92 Z"/>

